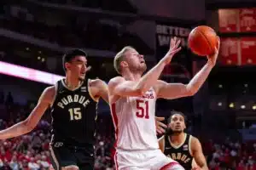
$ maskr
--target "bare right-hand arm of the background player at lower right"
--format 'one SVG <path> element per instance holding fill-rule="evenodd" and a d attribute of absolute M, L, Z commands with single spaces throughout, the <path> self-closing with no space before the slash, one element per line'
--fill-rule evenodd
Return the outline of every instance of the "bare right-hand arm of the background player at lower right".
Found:
<path fill-rule="evenodd" d="M 208 170 L 207 160 L 202 152 L 201 143 L 195 137 L 192 137 L 192 140 L 191 140 L 191 152 L 196 163 L 195 165 L 197 165 L 198 167 L 201 167 L 202 170 Z"/>

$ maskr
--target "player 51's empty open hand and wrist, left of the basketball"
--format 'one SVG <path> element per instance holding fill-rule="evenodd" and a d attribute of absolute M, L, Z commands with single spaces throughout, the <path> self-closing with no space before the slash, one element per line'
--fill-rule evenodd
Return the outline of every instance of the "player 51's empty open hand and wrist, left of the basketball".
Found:
<path fill-rule="evenodd" d="M 166 65 L 171 62 L 173 55 L 177 54 L 177 52 L 181 50 L 181 47 L 179 47 L 180 42 L 180 39 L 177 39 L 177 37 L 171 38 L 170 49 L 166 53 L 166 56 L 162 59 L 162 61 L 165 62 Z"/>

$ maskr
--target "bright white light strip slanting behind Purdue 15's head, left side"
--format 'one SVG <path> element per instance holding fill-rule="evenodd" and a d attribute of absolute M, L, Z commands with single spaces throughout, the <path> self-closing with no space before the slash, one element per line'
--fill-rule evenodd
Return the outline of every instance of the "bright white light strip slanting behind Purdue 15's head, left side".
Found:
<path fill-rule="evenodd" d="M 55 82 L 64 78 L 60 75 L 55 75 L 45 71 L 38 71 L 20 65 L 13 65 L 3 61 L 0 61 L 0 74 L 19 77 L 34 82 L 43 82 L 50 85 L 54 85 Z"/>

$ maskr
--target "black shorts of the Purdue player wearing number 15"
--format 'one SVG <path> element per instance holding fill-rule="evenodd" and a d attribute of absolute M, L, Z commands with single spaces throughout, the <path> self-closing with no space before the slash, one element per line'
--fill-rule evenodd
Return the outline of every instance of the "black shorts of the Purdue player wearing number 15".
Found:
<path fill-rule="evenodd" d="M 61 167 L 79 167 L 79 170 L 94 169 L 94 146 L 83 147 L 57 142 L 49 145 L 50 158 L 55 170 Z"/>

